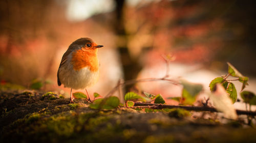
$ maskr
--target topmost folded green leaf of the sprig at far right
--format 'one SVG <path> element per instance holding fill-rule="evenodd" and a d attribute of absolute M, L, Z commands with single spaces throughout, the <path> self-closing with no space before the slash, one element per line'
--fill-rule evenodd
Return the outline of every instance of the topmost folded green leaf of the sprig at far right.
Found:
<path fill-rule="evenodd" d="M 249 78 L 246 77 L 246 76 L 243 76 L 233 65 L 231 65 L 230 63 L 227 63 L 228 64 L 228 73 L 231 75 L 231 76 L 234 76 L 234 77 L 239 77 L 239 81 L 243 83 L 242 85 L 242 90 L 244 90 L 245 86 L 248 85 L 248 80 Z M 242 91 L 241 90 L 241 91 Z"/>

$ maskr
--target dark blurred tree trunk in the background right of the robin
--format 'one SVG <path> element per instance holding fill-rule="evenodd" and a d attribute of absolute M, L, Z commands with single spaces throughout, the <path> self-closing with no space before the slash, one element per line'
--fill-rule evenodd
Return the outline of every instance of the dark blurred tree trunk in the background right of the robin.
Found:
<path fill-rule="evenodd" d="M 129 49 L 127 48 L 127 34 L 124 26 L 124 8 L 125 0 L 115 0 L 116 3 L 116 20 L 114 24 L 114 30 L 118 37 L 117 49 L 120 54 L 120 60 L 123 69 L 124 80 L 130 80 L 137 77 L 138 73 L 142 69 L 138 62 L 138 59 L 132 59 Z M 133 85 L 127 85 L 125 87 L 126 92 L 129 91 Z"/>

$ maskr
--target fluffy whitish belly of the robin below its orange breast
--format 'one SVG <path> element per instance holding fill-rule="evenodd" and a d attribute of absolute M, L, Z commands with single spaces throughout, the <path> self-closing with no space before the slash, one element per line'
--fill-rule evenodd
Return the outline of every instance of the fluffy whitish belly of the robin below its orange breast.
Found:
<path fill-rule="evenodd" d="M 59 79 L 65 87 L 72 89 L 85 89 L 94 85 L 99 78 L 99 71 L 91 72 L 88 67 L 73 70 L 73 66 L 62 65 L 59 69 Z"/>

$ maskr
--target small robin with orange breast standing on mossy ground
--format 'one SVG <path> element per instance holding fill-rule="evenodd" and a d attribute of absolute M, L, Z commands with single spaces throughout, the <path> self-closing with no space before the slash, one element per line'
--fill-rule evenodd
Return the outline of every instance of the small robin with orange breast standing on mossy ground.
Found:
<path fill-rule="evenodd" d="M 70 103 L 73 102 L 72 89 L 86 89 L 95 84 L 99 78 L 99 60 L 97 45 L 90 38 L 80 38 L 74 41 L 63 54 L 58 73 L 58 85 L 64 84 L 71 88 Z M 86 90 L 87 94 L 88 91 Z M 91 101 L 88 94 L 89 101 Z"/>

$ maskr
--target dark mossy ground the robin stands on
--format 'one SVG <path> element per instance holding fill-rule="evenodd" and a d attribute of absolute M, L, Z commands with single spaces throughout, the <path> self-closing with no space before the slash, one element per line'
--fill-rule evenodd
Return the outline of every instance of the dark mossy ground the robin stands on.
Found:
<path fill-rule="evenodd" d="M 53 97 L 54 96 L 54 97 Z M 46 98 L 47 97 L 47 98 Z M 86 100 L 35 91 L 1 92 L 1 142 L 254 142 L 239 122 L 193 119 L 188 111 L 97 111 Z"/>

